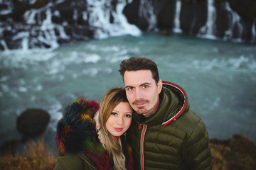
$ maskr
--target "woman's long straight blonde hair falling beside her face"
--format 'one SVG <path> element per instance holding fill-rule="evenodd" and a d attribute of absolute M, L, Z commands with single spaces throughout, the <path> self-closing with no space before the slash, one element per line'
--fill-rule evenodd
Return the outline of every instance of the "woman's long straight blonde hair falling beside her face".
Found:
<path fill-rule="evenodd" d="M 125 89 L 121 87 L 112 87 L 109 89 L 102 98 L 100 103 L 100 114 L 98 123 L 100 124 L 100 131 L 98 132 L 100 141 L 104 145 L 110 157 L 113 158 L 114 169 L 126 169 L 125 157 L 122 152 L 122 146 L 115 139 L 115 137 L 107 130 L 106 122 L 114 108 L 120 102 L 128 102 L 125 94 Z"/>

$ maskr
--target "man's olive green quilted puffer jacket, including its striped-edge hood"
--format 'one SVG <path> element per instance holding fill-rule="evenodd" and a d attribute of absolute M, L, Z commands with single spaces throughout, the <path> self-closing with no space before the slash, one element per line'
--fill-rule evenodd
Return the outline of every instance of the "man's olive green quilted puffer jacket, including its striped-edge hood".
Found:
<path fill-rule="evenodd" d="M 160 98 L 154 115 L 133 115 L 128 139 L 135 169 L 212 169 L 206 126 L 189 110 L 185 91 L 163 81 Z"/>

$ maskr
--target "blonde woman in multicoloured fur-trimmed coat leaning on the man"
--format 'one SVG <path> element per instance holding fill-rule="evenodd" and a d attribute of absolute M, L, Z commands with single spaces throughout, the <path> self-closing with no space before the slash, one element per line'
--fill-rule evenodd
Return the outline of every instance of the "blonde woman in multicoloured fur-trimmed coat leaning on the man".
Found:
<path fill-rule="evenodd" d="M 125 90 L 109 89 L 99 104 L 78 98 L 57 125 L 58 169 L 133 169 L 125 132 L 132 123 L 132 108 Z M 97 128 L 97 130 L 96 130 Z"/>

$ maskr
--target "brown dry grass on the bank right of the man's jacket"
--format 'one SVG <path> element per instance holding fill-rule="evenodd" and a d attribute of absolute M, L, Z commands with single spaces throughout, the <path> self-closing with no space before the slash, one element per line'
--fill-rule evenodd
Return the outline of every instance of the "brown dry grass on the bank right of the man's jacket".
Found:
<path fill-rule="evenodd" d="M 213 170 L 255 170 L 256 147 L 249 137 L 233 135 L 230 140 L 210 140 Z"/>

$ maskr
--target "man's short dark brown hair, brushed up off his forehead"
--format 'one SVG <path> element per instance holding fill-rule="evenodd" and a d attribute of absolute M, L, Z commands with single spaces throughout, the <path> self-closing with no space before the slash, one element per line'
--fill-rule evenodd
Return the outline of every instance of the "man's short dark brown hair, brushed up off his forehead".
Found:
<path fill-rule="evenodd" d="M 149 69 L 152 73 L 153 79 L 156 81 L 156 85 L 159 82 L 159 72 L 155 62 L 144 57 L 131 57 L 127 60 L 122 60 L 120 63 L 119 72 L 122 75 L 124 81 L 124 72 L 126 71 L 138 71 L 142 69 Z"/>

